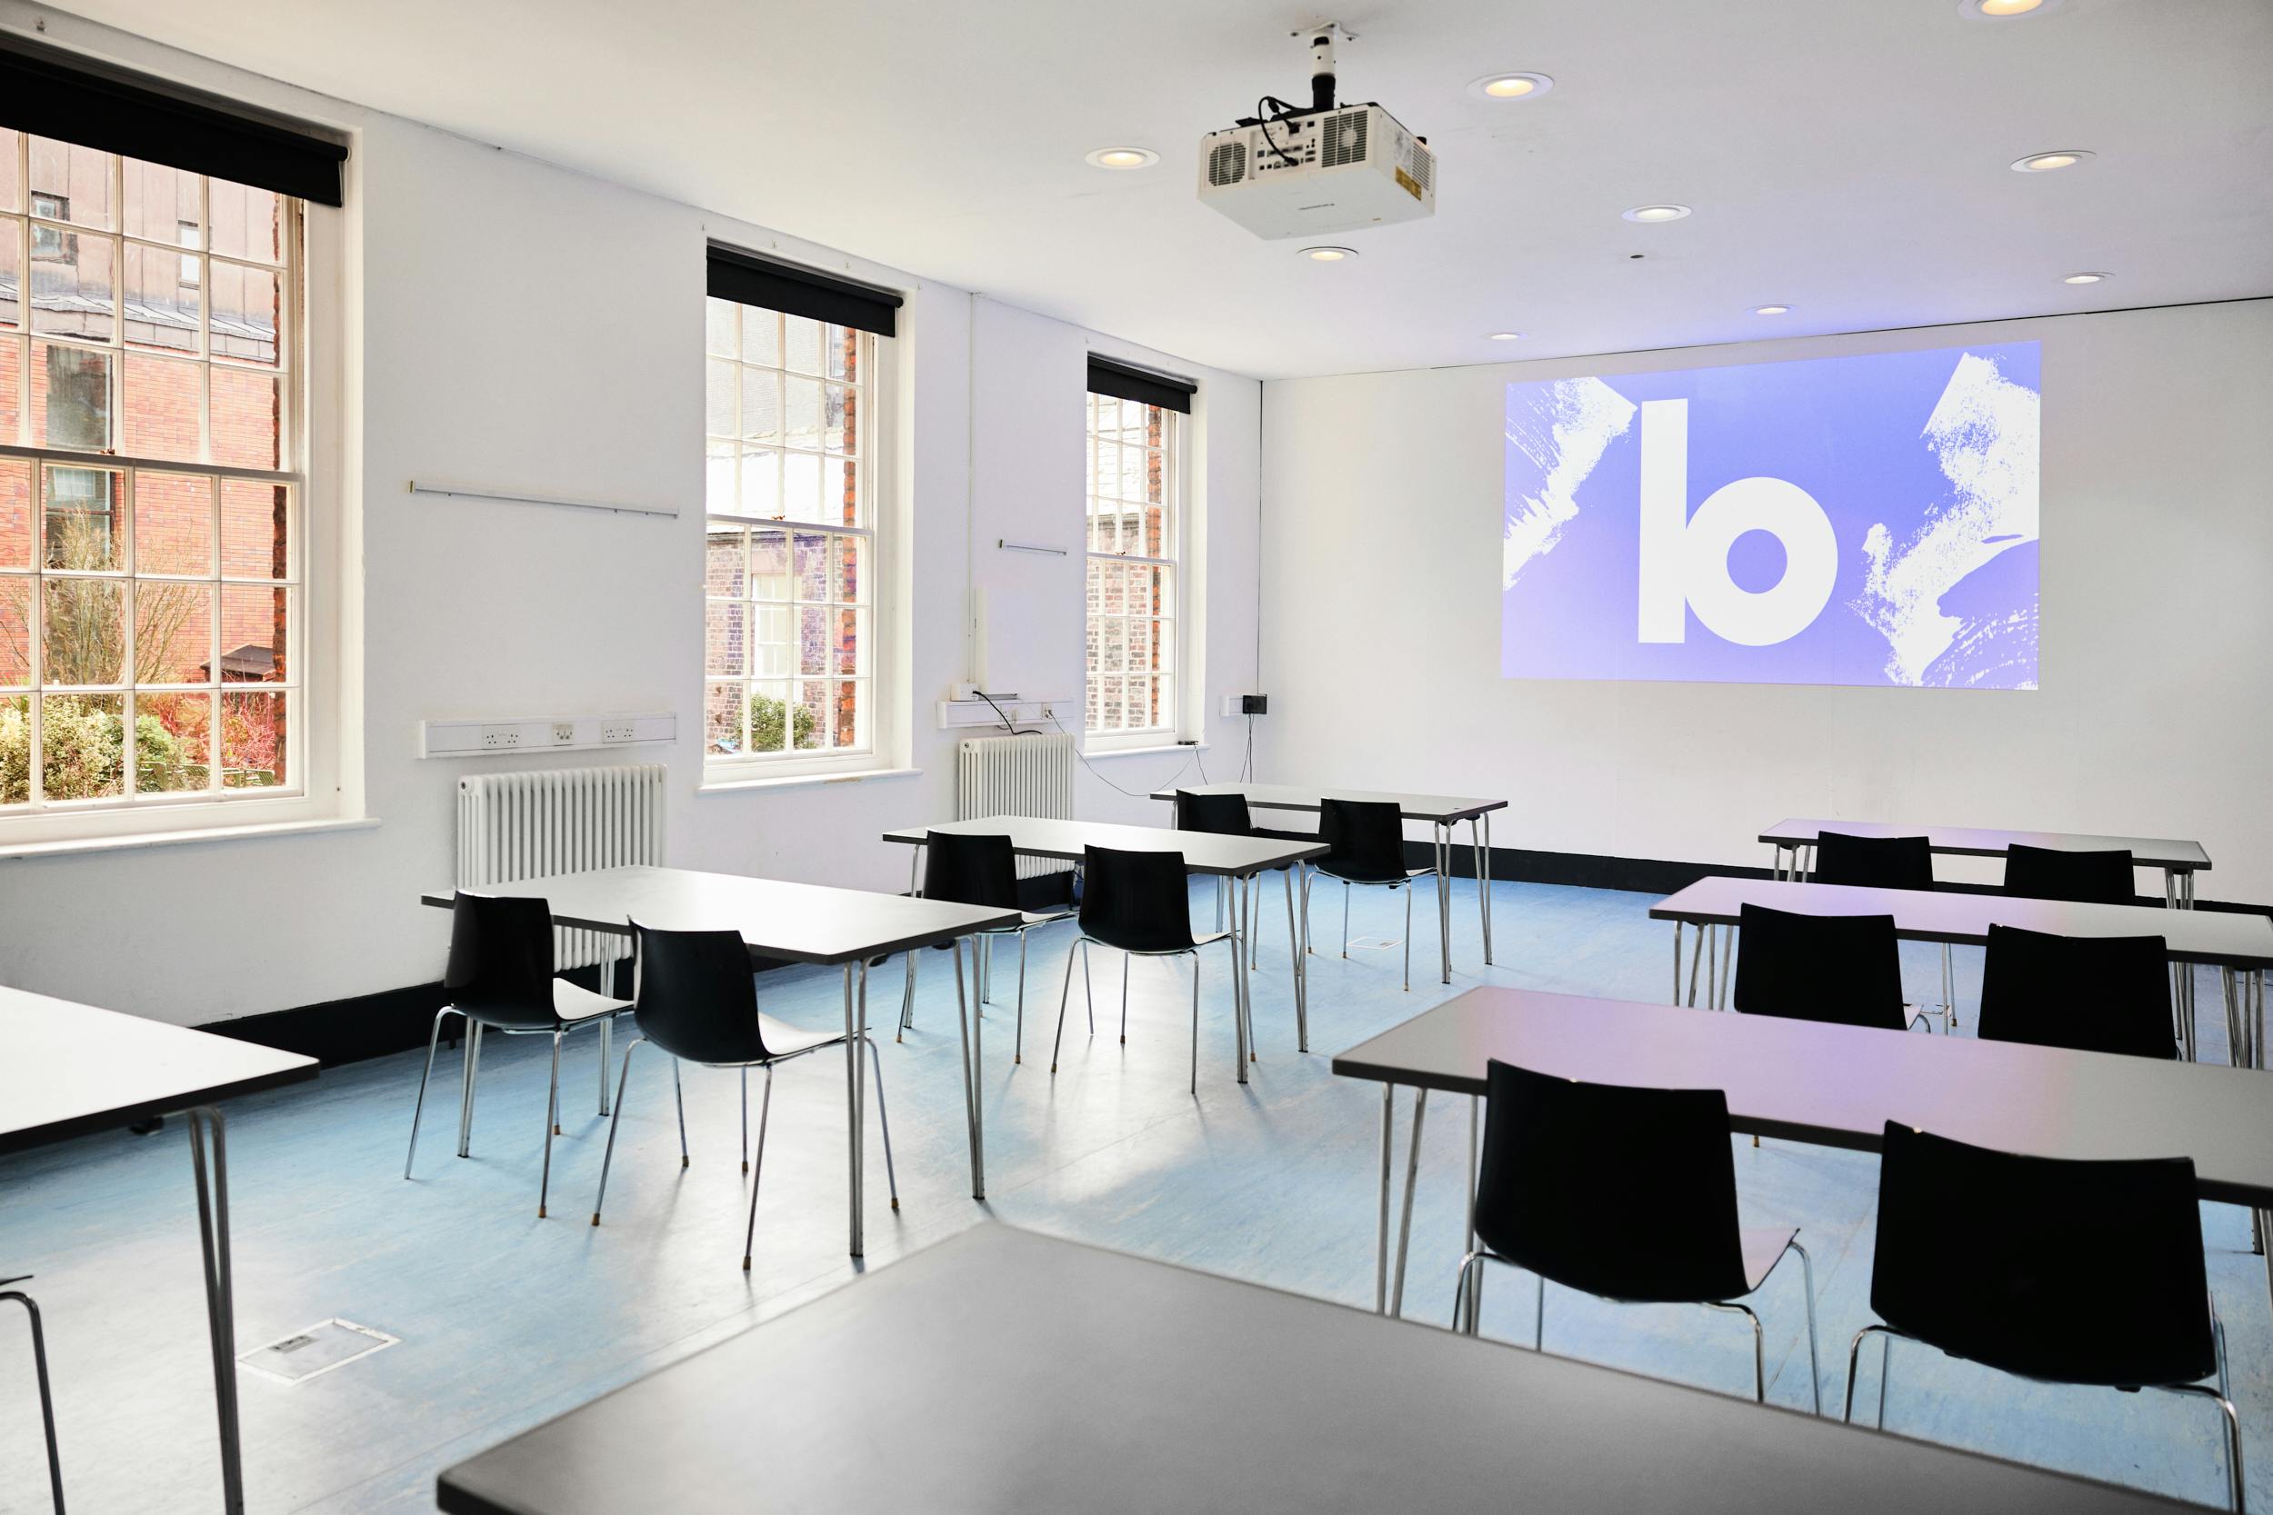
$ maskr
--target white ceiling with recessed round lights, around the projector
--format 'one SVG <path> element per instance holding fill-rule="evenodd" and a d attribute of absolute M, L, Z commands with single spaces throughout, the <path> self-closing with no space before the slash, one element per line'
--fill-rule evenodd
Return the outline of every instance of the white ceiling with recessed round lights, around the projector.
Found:
<path fill-rule="evenodd" d="M 1205 132 L 1264 91 L 1305 98 L 1289 32 L 1318 11 L 1298 5 L 73 9 L 1262 377 L 2273 293 L 2259 0 L 2066 0 L 2003 23 L 1957 0 L 1350 5 L 1341 95 L 1430 139 L 1439 209 L 1355 234 L 1364 257 L 1339 266 L 1193 193 Z M 1555 91 L 1468 95 L 1514 68 Z M 1082 164 L 1116 143 L 1162 161 Z M 2050 148 L 2098 159 L 2007 168 Z M 1696 214 L 1618 218 L 1657 200 Z M 2114 277 L 2059 284 L 2084 268 Z M 1748 313 L 1771 300 L 1793 313 Z"/>

